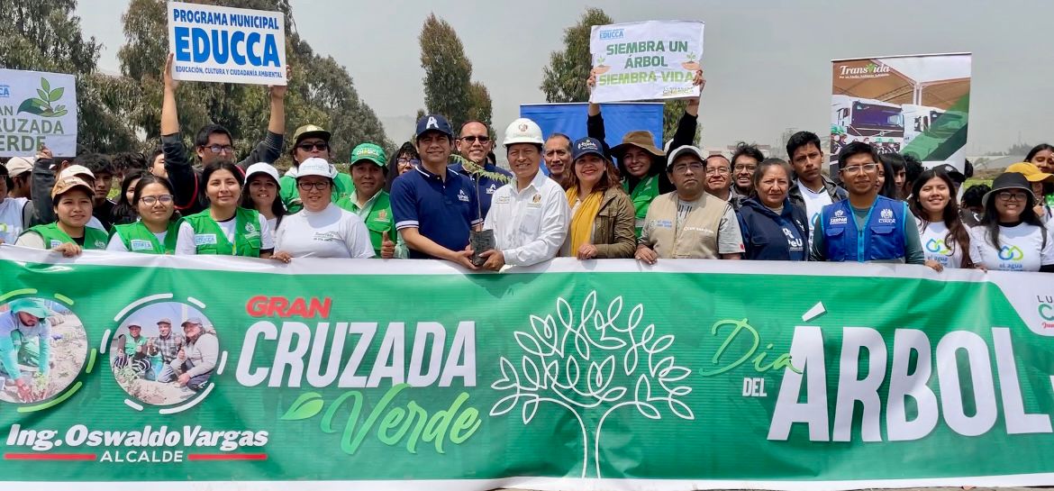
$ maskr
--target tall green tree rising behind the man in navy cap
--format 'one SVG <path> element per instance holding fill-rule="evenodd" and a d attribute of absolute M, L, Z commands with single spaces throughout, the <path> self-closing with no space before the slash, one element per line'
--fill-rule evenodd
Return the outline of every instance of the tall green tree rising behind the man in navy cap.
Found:
<path fill-rule="evenodd" d="M 449 22 L 430 14 L 421 27 L 421 66 L 425 68 L 425 106 L 441 114 L 456 130 L 477 119 L 490 125 L 491 101 L 487 87 L 472 82 L 472 62 Z"/>

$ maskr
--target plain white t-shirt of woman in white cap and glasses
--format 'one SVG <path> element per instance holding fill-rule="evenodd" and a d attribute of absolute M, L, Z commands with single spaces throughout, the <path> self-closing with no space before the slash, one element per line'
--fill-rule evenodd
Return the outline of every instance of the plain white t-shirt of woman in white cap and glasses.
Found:
<path fill-rule="evenodd" d="M 370 232 L 358 215 L 330 203 L 320 212 L 302 209 L 281 220 L 275 252 L 293 257 L 373 257 Z"/>

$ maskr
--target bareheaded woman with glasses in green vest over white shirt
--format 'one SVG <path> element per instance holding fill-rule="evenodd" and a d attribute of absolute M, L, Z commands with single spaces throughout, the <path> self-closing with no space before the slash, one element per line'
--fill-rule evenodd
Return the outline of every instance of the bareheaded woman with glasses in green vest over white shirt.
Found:
<path fill-rule="evenodd" d="M 132 191 L 139 220 L 114 225 L 106 251 L 175 254 L 179 216 L 169 179 L 144 174 Z"/>

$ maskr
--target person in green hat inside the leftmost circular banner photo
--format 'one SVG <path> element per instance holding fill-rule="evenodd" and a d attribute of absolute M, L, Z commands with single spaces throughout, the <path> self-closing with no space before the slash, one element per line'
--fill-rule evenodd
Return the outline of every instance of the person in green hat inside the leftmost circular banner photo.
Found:
<path fill-rule="evenodd" d="M 30 373 L 19 365 L 35 367 L 47 376 L 52 353 L 51 312 L 42 300 L 20 298 L 11 302 L 11 310 L 0 314 L 0 377 L 14 378 L 19 397 L 31 401 Z"/>

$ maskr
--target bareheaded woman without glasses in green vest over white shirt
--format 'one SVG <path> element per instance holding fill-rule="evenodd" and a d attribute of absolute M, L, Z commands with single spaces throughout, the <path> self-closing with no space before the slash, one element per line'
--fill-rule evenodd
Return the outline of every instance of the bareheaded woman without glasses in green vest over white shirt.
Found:
<path fill-rule="evenodd" d="M 201 173 L 209 208 L 184 217 L 176 238 L 176 255 L 271 257 L 274 237 L 267 220 L 256 210 L 238 204 L 242 192 L 241 170 L 232 162 L 207 165 Z"/>

